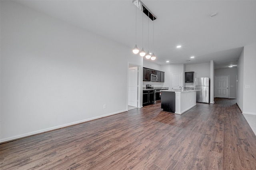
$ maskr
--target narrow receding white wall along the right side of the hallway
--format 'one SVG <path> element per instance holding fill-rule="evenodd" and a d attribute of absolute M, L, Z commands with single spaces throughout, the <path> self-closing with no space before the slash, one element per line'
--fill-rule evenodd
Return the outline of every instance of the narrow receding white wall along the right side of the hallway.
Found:
<path fill-rule="evenodd" d="M 237 62 L 237 105 L 241 111 L 244 110 L 244 49 Z"/>

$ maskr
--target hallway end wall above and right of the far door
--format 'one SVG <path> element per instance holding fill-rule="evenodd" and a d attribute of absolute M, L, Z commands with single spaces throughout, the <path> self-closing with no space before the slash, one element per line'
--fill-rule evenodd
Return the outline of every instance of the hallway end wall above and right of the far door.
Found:
<path fill-rule="evenodd" d="M 216 69 L 215 76 L 229 75 L 229 98 L 236 99 L 237 68 Z"/>

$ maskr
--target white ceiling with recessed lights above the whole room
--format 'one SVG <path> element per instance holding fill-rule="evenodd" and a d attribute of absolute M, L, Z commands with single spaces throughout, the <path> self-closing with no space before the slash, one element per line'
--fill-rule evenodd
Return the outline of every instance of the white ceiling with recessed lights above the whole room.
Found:
<path fill-rule="evenodd" d="M 132 0 L 16 1 L 132 48 L 136 7 Z M 154 13 L 153 62 L 236 64 L 245 45 L 256 43 L 256 0 L 142 0 Z M 210 17 L 210 14 L 218 13 Z M 153 24 L 144 14 L 144 49 L 153 46 Z M 142 47 L 142 12 L 137 10 L 137 45 Z M 180 49 L 176 45 L 182 45 Z M 190 56 L 195 56 L 190 59 Z M 138 55 L 138 57 L 140 57 Z M 189 60 L 190 61 L 186 61 Z"/>

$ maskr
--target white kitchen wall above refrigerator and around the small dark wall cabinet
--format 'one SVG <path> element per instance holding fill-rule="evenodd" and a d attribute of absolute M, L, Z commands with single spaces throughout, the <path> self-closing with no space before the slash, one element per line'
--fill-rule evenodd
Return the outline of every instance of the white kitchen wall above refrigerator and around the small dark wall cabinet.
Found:
<path fill-rule="evenodd" d="M 210 62 L 200 64 L 187 64 L 184 65 L 186 72 L 194 71 L 194 78 L 210 77 Z M 185 83 L 184 87 L 194 87 L 194 83 Z"/>

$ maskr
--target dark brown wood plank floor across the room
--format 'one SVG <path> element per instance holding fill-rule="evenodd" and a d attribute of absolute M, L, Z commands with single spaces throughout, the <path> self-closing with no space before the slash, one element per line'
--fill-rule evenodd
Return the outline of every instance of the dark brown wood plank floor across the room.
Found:
<path fill-rule="evenodd" d="M 234 99 L 183 115 L 160 104 L 0 145 L 0 169 L 255 170 L 256 136 Z"/>

